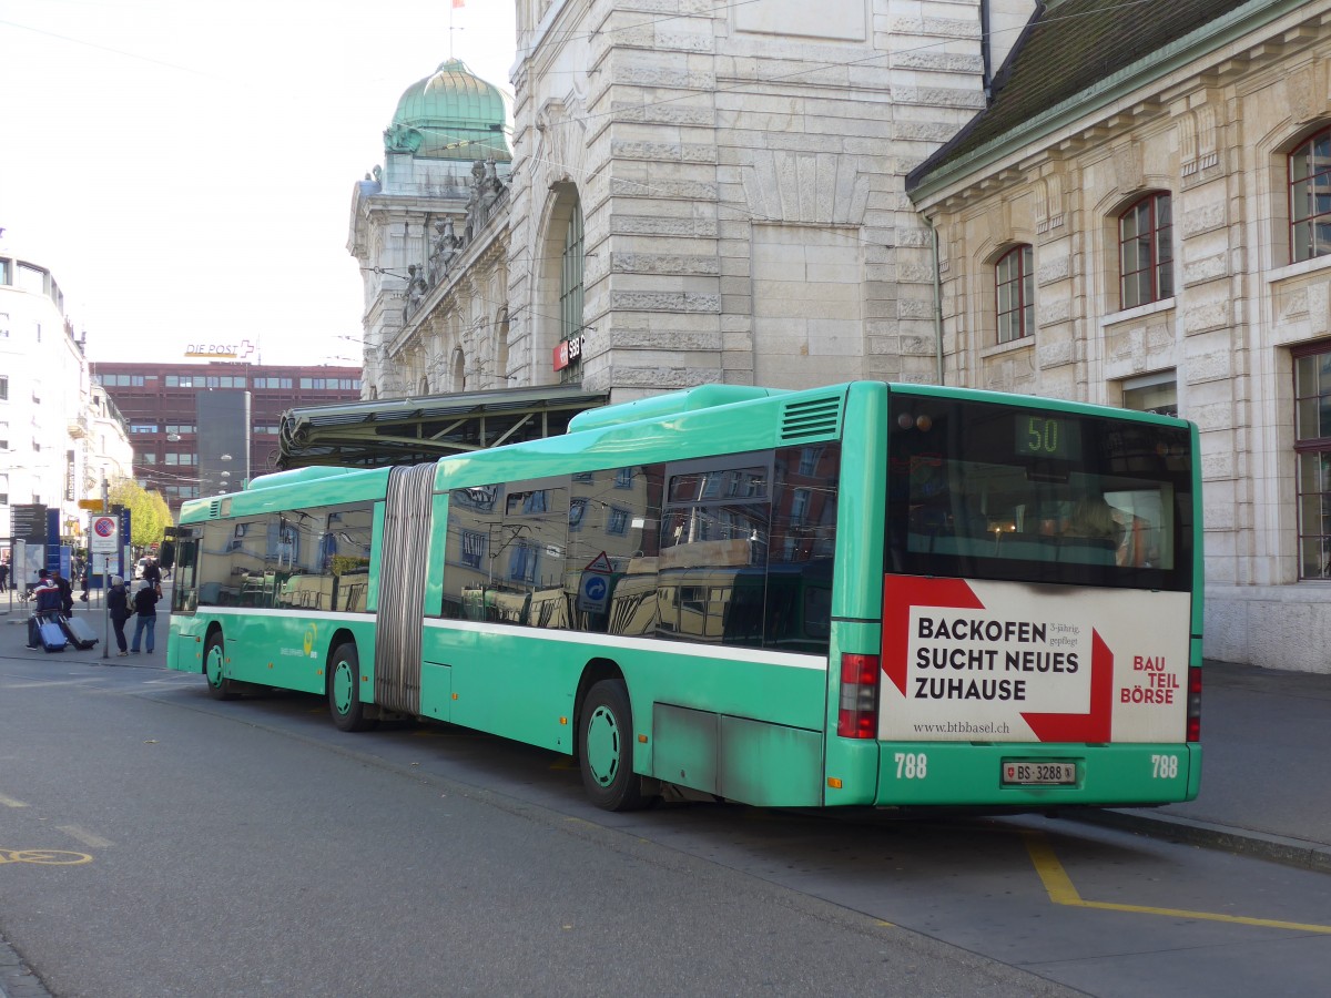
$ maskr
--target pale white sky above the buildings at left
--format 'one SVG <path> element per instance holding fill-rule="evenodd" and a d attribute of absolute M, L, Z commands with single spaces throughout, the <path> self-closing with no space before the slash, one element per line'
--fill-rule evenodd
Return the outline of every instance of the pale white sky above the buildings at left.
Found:
<path fill-rule="evenodd" d="M 358 366 L 351 192 L 398 98 L 450 55 L 511 92 L 514 0 L 465 4 L 0 0 L 0 246 L 95 361 Z"/>

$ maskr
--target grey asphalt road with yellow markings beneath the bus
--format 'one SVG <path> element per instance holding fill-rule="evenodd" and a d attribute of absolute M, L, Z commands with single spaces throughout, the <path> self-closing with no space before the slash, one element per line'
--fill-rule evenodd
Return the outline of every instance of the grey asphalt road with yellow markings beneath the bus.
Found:
<path fill-rule="evenodd" d="M 61 998 L 1270 998 L 1331 965 L 1323 874 L 1036 817 L 607 814 L 547 752 L 4 631 L 0 931 Z"/>

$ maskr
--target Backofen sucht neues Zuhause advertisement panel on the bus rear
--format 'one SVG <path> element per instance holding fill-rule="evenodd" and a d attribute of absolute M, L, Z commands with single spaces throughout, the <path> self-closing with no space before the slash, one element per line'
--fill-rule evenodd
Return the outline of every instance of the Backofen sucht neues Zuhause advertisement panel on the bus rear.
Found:
<path fill-rule="evenodd" d="M 885 579 L 878 737 L 1182 741 L 1186 592 Z"/>

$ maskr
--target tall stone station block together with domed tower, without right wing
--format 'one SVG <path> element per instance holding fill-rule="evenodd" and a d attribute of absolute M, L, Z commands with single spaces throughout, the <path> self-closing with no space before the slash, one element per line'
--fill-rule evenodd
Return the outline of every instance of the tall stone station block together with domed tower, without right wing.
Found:
<path fill-rule="evenodd" d="M 934 379 L 904 174 L 982 106 L 1030 9 L 519 0 L 511 176 L 507 149 L 410 140 L 494 124 L 451 98 L 426 121 L 475 86 L 446 64 L 355 192 L 366 397 Z M 476 190 L 491 210 L 433 279 L 435 226 Z"/>

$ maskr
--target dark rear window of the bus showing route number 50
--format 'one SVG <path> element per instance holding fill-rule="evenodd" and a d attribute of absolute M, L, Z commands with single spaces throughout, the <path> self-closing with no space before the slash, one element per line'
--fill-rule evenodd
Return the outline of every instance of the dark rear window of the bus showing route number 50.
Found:
<path fill-rule="evenodd" d="M 1186 427 L 894 395 L 886 570 L 1189 589 Z"/>

